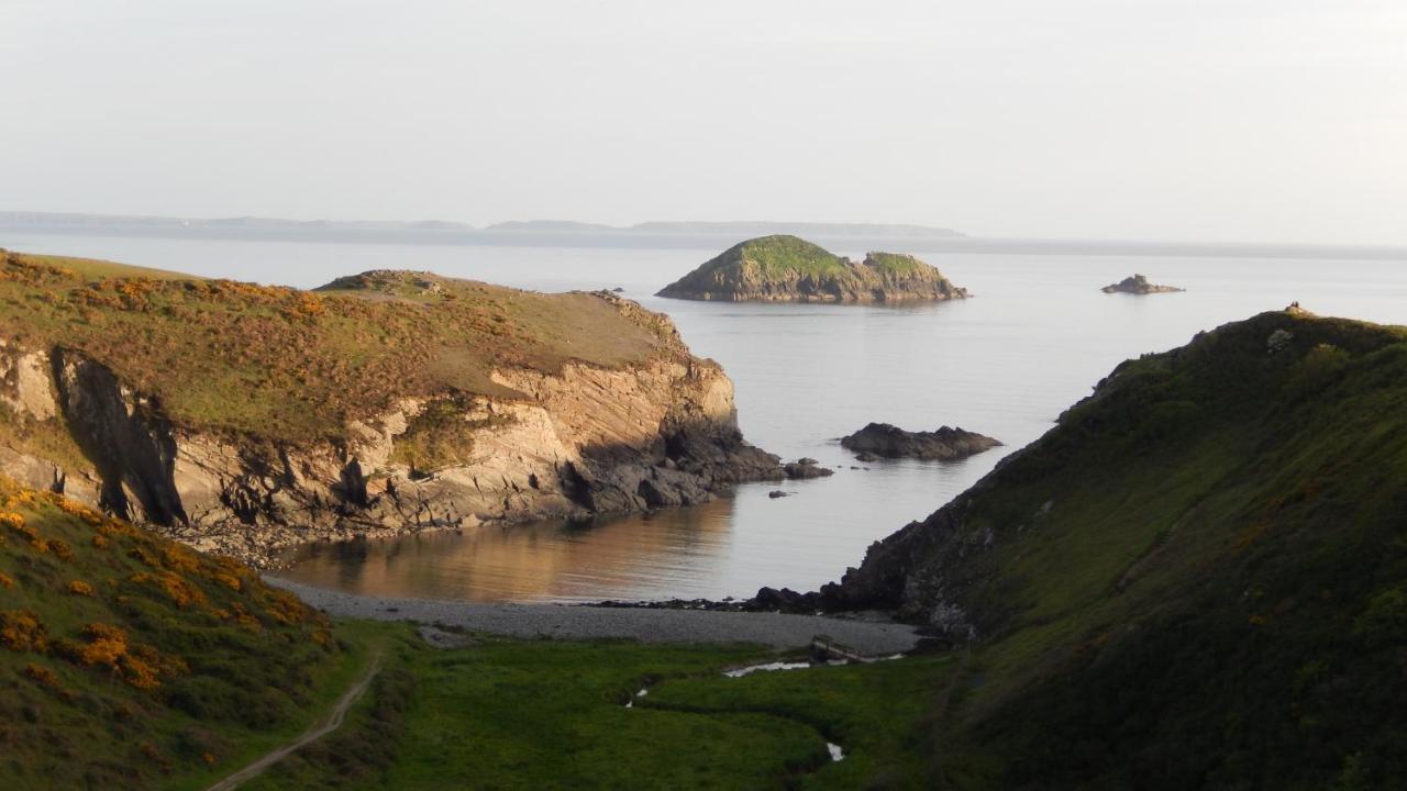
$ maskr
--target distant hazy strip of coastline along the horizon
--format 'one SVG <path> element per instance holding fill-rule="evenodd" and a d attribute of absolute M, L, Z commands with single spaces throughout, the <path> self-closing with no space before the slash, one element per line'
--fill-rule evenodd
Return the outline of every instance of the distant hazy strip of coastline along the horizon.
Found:
<path fill-rule="evenodd" d="M 844 252 L 865 252 L 902 241 L 910 252 L 967 255 L 1082 255 L 1240 259 L 1351 259 L 1407 262 L 1407 246 L 1276 245 L 1255 242 L 1158 242 L 1128 239 L 1023 239 L 967 236 L 948 228 L 860 222 L 640 222 L 630 227 L 533 220 L 476 228 L 440 220 L 414 222 L 280 220 L 260 217 L 177 218 L 0 211 L 6 232 L 61 236 L 284 241 L 338 243 L 424 243 L 553 248 L 663 248 L 715 251 L 760 234 L 806 234 Z"/>

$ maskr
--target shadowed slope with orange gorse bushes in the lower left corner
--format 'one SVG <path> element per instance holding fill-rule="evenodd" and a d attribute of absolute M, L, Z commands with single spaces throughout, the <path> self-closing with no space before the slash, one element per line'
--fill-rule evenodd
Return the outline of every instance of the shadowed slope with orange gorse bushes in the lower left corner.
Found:
<path fill-rule="evenodd" d="M 301 730 L 360 662 L 245 566 L 0 480 L 4 788 L 200 785 Z"/>

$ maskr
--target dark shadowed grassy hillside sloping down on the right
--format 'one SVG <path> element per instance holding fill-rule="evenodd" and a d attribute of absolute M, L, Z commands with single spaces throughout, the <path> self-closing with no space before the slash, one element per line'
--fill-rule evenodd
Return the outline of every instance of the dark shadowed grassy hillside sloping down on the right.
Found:
<path fill-rule="evenodd" d="M 1407 783 L 1407 329 L 1262 314 L 1130 360 L 823 598 L 967 652 L 964 788 Z"/>

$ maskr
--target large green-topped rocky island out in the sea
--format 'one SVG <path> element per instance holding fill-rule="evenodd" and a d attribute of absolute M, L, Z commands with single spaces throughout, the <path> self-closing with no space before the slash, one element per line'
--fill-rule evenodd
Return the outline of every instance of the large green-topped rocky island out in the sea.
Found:
<path fill-rule="evenodd" d="M 770 303 L 896 303 L 968 296 L 912 255 L 872 252 L 861 262 L 798 236 L 749 239 L 664 287 L 675 300 Z"/>

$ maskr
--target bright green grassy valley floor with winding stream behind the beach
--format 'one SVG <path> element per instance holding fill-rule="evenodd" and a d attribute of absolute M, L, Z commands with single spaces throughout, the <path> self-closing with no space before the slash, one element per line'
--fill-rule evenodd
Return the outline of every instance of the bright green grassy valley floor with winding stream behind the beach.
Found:
<path fill-rule="evenodd" d="M 401 636 L 343 730 L 249 788 L 916 788 L 919 719 L 950 664 L 727 678 L 758 649 L 481 638 L 438 650 L 377 628 Z M 847 757 L 832 763 L 826 740 Z"/>

